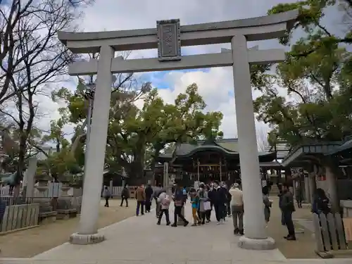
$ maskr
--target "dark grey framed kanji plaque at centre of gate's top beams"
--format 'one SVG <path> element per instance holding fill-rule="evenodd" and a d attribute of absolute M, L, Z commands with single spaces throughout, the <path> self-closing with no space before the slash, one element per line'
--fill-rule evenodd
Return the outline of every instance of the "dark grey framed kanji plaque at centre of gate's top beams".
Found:
<path fill-rule="evenodd" d="M 156 22 L 159 61 L 181 60 L 180 19 Z"/>

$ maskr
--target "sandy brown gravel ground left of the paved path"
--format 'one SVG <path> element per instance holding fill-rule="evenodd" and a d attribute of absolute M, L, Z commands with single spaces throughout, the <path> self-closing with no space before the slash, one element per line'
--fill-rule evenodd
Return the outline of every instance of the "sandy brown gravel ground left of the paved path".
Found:
<path fill-rule="evenodd" d="M 120 207 L 119 199 L 111 199 L 110 207 L 101 201 L 98 227 L 106 227 L 130 218 L 135 214 L 136 201 L 130 199 L 129 207 Z M 56 220 L 37 228 L 0 236 L 1 258 L 30 258 L 68 241 L 70 234 L 77 231 L 79 217 L 70 220 Z"/>

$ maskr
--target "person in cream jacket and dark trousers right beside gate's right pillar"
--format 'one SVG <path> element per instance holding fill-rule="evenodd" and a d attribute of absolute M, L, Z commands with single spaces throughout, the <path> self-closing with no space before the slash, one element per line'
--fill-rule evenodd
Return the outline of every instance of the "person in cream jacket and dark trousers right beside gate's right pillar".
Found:
<path fill-rule="evenodd" d="M 232 222 L 234 223 L 234 234 L 244 235 L 244 203 L 243 203 L 243 192 L 239 189 L 239 184 L 234 183 L 230 189 L 231 194 L 231 213 Z"/>

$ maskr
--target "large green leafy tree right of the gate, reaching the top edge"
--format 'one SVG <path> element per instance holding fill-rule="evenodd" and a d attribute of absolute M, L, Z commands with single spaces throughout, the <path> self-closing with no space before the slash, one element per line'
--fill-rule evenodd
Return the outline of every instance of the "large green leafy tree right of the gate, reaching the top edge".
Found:
<path fill-rule="evenodd" d="M 275 74 L 261 73 L 254 87 L 263 92 L 254 101 L 257 118 L 277 138 L 292 146 L 307 141 L 340 141 L 352 132 L 351 32 L 338 37 L 326 25 L 327 11 L 337 1 L 297 1 L 274 6 L 268 14 L 299 10 L 293 29 L 279 39 L 290 46 L 287 61 Z M 349 6 L 345 5 L 346 12 Z M 293 34 L 302 37 L 294 41 Z"/>

